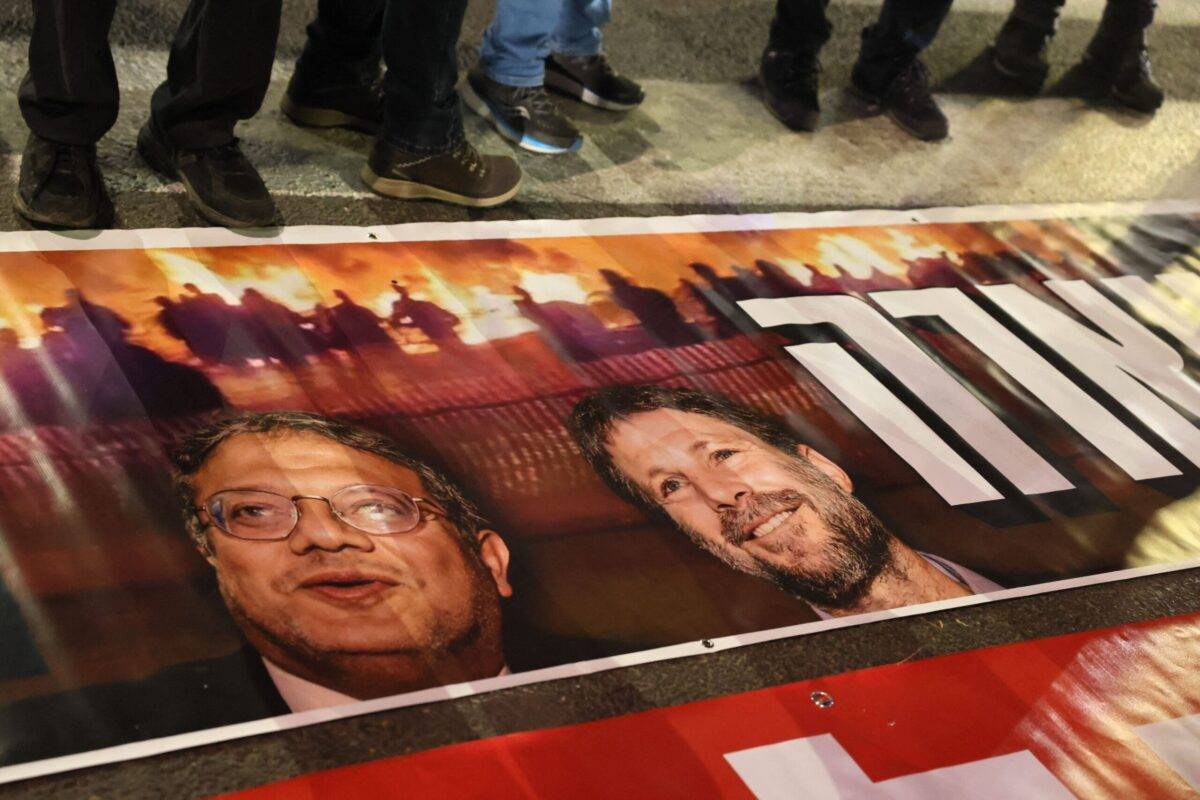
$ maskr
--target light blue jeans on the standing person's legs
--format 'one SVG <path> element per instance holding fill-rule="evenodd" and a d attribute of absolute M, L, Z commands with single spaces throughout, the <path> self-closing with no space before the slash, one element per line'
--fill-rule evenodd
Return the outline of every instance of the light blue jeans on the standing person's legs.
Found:
<path fill-rule="evenodd" d="M 547 55 L 595 55 L 611 18 L 612 0 L 497 0 L 479 66 L 508 86 L 540 86 Z"/>

